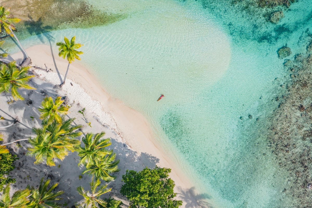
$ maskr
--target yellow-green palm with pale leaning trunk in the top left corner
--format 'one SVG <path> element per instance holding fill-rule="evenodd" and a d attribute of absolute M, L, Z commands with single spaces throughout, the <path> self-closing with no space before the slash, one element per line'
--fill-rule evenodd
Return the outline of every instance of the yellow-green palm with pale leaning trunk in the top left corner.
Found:
<path fill-rule="evenodd" d="M 16 30 L 14 24 L 19 22 L 19 21 L 21 21 L 21 19 L 12 18 L 10 16 L 9 9 L 5 9 L 3 6 L 0 6 L 0 32 L 1 32 L 2 28 L 3 28 L 4 31 L 8 35 L 14 36 L 16 41 L 18 42 L 19 46 L 21 47 L 22 51 L 25 53 L 26 58 L 28 58 L 28 55 L 27 55 L 25 49 L 23 48 L 23 46 L 20 43 L 20 41 L 18 40 L 17 36 L 13 32 L 13 30 Z"/>

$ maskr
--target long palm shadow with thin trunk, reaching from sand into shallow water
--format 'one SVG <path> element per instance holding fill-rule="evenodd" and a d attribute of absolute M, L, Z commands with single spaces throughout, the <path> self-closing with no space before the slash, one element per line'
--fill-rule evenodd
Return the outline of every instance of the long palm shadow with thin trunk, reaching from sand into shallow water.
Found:
<path fill-rule="evenodd" d="M 30 15 L 28 15 L 28 17 L 29 17 L 30 20 L 29 21 L 25 21 L 24 25 L 27 28 L 29 34 L 37 35 L 39 40 L 42 43 L 45 42 L 44 38 L 46 38 L 49 41 L 51 55 L 52 55 L 53 63 L 54 63 L 54 66 L 55 66 L 55 70 L 57 72 L 57 75 L 58 75 L 61 83 L 62 83 L 63 79 L 61 77 L 61 74 L 60 74 L 57 66 L 56 66 L 56 62 L 55 62 L 55 58 L 54 58 L 54 54 L 53 54 L 53 49 L 52 49 L 52 44 L 51 44 L 51 41 L 53 41 L 55 39 L 49 33 L 51 30 L 53 30 L 53 27 L 51 27 L 49 25 L 43 26 L 43 22 L 42 22 L 42 18 L 41 17 L 37 21 L 33 20 Z"/>

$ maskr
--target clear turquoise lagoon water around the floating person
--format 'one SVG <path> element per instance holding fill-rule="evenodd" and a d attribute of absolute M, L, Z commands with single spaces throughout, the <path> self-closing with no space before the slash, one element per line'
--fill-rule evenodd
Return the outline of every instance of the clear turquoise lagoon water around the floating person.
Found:
<path fill-rule="evenodd" d="M 158 143 L 191 178 L 204 207 L 287 207 L 287 174 L 267 148 L 267 117 L 287 80 L 278 48 L 303 52 L 312 3 L 277 25 L 266 10 L 230 1 L 91 1 L 127 18 L 32 36 L 52 45 L 76 35 L 82 62 L 104 89 L 142 113 Z M 245 9 L 241 9 L 245 7 Z M 160 94 L 165 97 L 156 102 Z M 170 154 L 170 155 L 172 155 Z"/>

